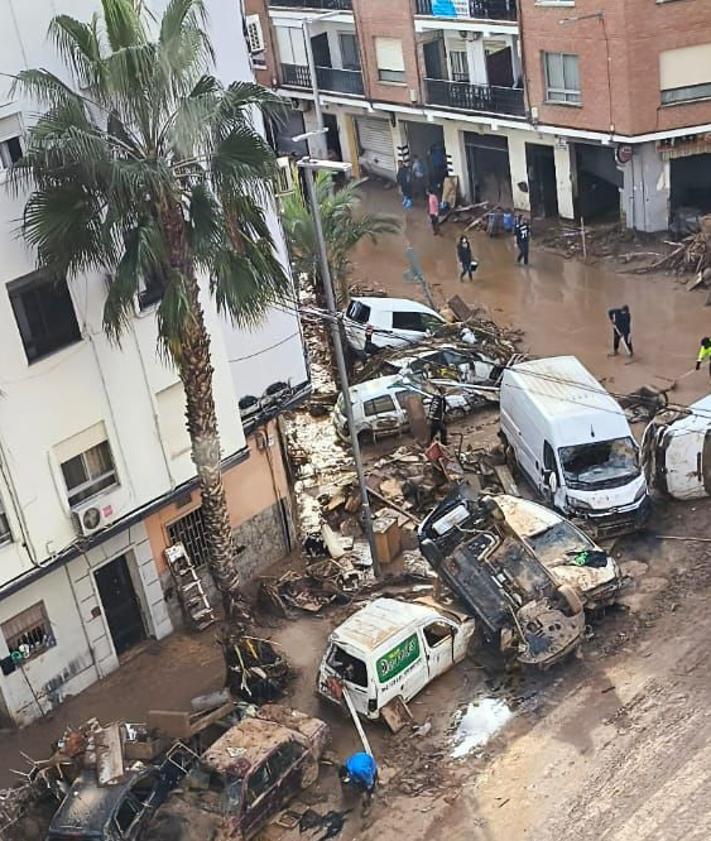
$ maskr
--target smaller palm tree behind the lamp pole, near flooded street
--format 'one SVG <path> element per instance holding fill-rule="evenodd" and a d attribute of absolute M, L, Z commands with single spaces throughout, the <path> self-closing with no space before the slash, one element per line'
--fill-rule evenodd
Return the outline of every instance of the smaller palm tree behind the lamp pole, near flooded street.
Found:
<path fill-rule="evenodd" d="M 400 230 L 400 224 L 394 216 L 361 212 L 357 181 L 334 190 L 332 176 L 320 172 L 315 182 L 328 265 L 333 275 L 336 297 L 339 302 L 343 302 L 348 297 L 350 255 L 355 246 L 366 237 L 377 242 L 382 234 L 395 234 Z M 295 271 L 318 280 L 320 270 L 313 217 L 308 196 L 301 189 L 283 199 L 282 220 Z M 320 283 L 317 288 L 321 288 Z"/>

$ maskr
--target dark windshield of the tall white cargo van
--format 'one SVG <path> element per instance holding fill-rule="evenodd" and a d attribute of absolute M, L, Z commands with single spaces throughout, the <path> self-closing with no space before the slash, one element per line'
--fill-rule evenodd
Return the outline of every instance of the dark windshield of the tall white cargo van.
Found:
<path fill-rule="evenodd" d="M 595 441 L 558 450 L 569 488 L 619 488 L 639 476 L 639 455 L 631 438 Z"/>

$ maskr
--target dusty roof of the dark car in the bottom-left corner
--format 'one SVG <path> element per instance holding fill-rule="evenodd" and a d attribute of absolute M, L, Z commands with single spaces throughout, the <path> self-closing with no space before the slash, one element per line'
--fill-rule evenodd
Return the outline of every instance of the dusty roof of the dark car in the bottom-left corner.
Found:
<path fill-rule="evenodd" d="M 52 818 L 49 838 L 70 833 L 81 833 L 83 839 L 103 838 L 106 823 L 141 775 L 141 771 L 127 771 L 119 782 L 100 786 L 93 769 L 82 771 Z"/>

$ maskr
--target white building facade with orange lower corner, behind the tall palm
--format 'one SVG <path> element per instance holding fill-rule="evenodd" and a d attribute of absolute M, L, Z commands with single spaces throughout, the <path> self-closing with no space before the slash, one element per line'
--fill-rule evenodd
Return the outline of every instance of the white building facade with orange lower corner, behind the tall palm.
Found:
<path fill-rule="evenodd" d="M 253 78 L 239 9 L 207 5 L 217 74 Z M 69 11 L 89 19 L 99 6 L 82 0 Z M 63 72 L 45 39 L 55 11 L 6 4 L 0 79 L 22 67 Z M 167 546 L 182 541 L 209 583 L 184 393 L 156 353 L 152 290 L 137 296 L 117 348 L 102 332 L 104 278 L 50 282 L 17 237 L 23 197 L 5 190 L 4 170 L 22 154 L 35 107 L 0 81 L 0 727 L 47 713 L 182 623 Z M 292 546 L 276 418 L 307 393 L 308 373 L 288 306 L 242 331 L 206 291 L 202 298 L 237 561 L 248 579 Z"/>

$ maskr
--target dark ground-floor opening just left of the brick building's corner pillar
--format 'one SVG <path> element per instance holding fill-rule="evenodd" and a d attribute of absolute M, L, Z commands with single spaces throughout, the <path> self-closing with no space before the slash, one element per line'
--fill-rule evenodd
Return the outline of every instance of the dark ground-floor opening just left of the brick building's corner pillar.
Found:
<path fill-rule="evenodd" d="M 578 172 L 578 215 L 584 219 L 619 219 L 624 180 L 610 146 L 575 144 Z"/>

